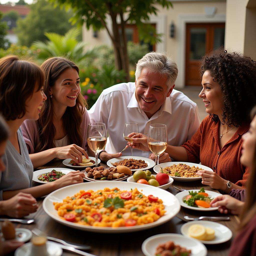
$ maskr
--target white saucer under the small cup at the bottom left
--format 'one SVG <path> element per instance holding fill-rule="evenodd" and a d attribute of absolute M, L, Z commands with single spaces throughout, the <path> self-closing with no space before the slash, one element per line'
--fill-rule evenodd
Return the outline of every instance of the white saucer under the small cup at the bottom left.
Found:
<path fill-rule="evenodd" d="M 15 256 L 30 256 L 32 243 L 25 243 L 23 246 L 19 247 L 14 255 Z M 59 244 L 47 241 L 46 242 L 47 251 L 49 253 L 49 256 L 61 256 L 62 255 L 62 249 Z"/>

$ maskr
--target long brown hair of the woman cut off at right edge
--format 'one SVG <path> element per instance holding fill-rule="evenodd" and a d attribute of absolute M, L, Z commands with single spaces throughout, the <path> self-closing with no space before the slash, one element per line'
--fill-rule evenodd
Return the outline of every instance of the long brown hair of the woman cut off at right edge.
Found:
<path fill-rule="evenodd" d="M 256 106 L 251 111 L 251 119 L 256 115 Z M 253 164 L 250 169 L 250 177 L 246 188 L 246 201 L 240 216 L 239 229 L 245 227 L 256 215 L 256 145 L 254 150 Z"/>

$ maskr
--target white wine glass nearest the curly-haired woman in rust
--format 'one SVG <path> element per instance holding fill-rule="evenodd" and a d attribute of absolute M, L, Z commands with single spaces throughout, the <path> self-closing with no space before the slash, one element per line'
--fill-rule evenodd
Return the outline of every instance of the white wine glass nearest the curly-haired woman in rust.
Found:
<path fill-rule="evenodd" d="M 149 126 L 148 147 L 156 156 L 156 165 L 159 164 L 159 155 L 161 155 L 168 145 L 167 126 L 165 124 L 151 124 Z"/>

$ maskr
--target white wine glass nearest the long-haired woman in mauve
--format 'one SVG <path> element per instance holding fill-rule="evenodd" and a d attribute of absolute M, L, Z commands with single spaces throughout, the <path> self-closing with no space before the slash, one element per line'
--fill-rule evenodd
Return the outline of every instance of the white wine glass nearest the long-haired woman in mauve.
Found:
<path fill-rule="evenodd" d="M 98 167 L 98 155 L 104 149 L 107 142 L 107 130 L 104 123 L 90 123 L 87 129 L 87 143 L 95 154 L 96 167 Z"/>

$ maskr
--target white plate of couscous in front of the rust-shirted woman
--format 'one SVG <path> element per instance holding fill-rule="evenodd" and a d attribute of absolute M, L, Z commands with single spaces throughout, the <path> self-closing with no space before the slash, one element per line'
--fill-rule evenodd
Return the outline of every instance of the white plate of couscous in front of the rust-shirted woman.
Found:
<path fill-rule="evenodd" d="M 202 179 L 202 177 L 196 175 L 198 170 L 208 170 L 213 172 L 211 168 L 205 165 L 187 162 L 168 162 L 158 164 L 154 167 L 156 173 L 160 173 L 162 170 L 174 180 L 178 181 L 194 181 Z"/>

